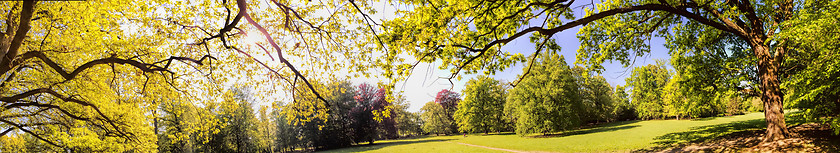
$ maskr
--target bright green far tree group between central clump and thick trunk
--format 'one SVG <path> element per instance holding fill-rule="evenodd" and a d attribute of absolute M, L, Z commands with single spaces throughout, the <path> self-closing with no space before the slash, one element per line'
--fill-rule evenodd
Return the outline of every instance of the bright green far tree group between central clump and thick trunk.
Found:
<path fill-rule="evenodd" d="M 697 118 L 737 115 L 763 111 L 763 104 L 755 96 L 736 91 L 733 86 L 698 84 L 685 73 L 666 68 L 665 61 L 657 61 L 633 69 L 627 84 L 631 99 L 641 119 Z M 740 82 L 739 82 L 740 83 Z M 746 83 L 746 82 L 743 82 Z"/>

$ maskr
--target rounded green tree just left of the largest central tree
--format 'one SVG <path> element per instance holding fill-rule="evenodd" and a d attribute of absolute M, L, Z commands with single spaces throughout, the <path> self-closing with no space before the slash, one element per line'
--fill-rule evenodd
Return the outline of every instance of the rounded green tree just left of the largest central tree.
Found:
<path fill-rule="evenodd" d="M 461 132 L 501 131 L 505 129 L 504 118 L 505 91 L 498 81 L 486 76 L 478 76 L 467 82 L 463 93 L 464 100 L 458 104 L 454 120 Z"/>

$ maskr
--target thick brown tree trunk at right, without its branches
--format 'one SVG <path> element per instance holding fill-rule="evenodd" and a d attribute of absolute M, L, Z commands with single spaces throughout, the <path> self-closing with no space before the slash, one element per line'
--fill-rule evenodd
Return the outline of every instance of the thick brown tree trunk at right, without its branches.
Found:
<path fill-rule="evenodd" d="M 764 119 L 767 121 L 767 133 L 764 141 L 784 139 L 788 135 L 783 112 L 782 91 L 779 87 L 779 61 L 770 56 L 769 47 L 758 43 L 754 45 L 758 58 L 758 75 L 761 79 L 761 101 L 764 102 Z"/>

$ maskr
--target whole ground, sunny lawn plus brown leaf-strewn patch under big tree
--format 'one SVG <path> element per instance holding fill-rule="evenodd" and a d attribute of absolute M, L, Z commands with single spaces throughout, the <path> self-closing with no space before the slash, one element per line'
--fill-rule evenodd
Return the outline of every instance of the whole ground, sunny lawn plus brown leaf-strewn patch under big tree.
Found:
<path fill-rule="evenodd" d="M 840 138 L 789 113 L 791 138 L 760 143 L 764 115 L 624 121 L 549 136 L 513 133 L 377 141 L 324 152 L 836 152 Z"/>

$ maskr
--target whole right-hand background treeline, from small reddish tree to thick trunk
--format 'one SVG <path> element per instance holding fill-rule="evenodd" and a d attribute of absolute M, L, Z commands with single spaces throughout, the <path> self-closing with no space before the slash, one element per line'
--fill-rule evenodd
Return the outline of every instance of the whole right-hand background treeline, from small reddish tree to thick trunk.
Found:
<path fill-rule="evenodd" d="M 538 59 L 523 69 L 527 76 L 510 84 L 512 88 L 508 83 L 479 76 L 467 82 L 462 101 L 441 98 L 458 97 L 457 93 L 441 91 L 434 102 L 422 108 L 423 130 L 433 134 L 550 134 L 605 122 L 762 110 L 760 100 L 737 91 L 687 86 L 688 81 L 671 72 L 664 61 L 635 68 L 626 87 L 612 87 L 603 76 L 568 66 L 560 55 L 549 53 Z"/>

